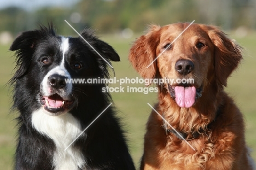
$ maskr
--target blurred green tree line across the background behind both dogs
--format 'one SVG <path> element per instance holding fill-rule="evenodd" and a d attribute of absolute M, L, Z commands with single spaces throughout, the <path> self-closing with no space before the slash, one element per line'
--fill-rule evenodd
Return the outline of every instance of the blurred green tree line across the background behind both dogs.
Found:
<path fill-rule="evenodd" d="M 255 29 L 255 11 L 255 0 L 83 0 L 68 8 L 2 9 L 0 32 L 17 34 L 52 21 L 58 33 L 66 34 L 71 31 L 64 20 L 73 23 L 78 30 L 92 27 L 102 33 L 113 33 L 125 28 L 142 32 L 148 24 L 167 25 L 193 20 L 218 25 L 226 30 L 239 26 Z"/>

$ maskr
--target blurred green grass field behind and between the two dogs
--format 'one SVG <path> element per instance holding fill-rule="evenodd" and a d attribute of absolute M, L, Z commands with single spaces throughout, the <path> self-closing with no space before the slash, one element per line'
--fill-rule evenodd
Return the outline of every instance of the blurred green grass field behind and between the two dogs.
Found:
<path fill-rule="evenodd" d="M 240 68 L 229 78 L 228 87 L 225 89 L 234 97 L 237 105 L 241 108 L 246 120 L 246 139 L 248 145 L 254 150 L 252 156 L 256 160 L 256 34 L 251 33 L 245 38 L 235 38 L 244 49 L 244 60 Z M 138 36 L 137 36 L 138 37 Z M 100 37 L 117 50 L 121 62 L 113 63 L 117 79 L 136 78 L 139 75 L 130 66 L 127 60 L 129 48 L 135 37 L 123 39 L 113 35 L 103 35 Z M 0 169 L 13 169 L 13 155 L 15 152 L 16 127 L 13 120 L 15 113 L 9 113 L 11 107 L 11 89 L 5 86 L 14 71 L 13 53 L 8 52 L 9 46 L 0 46 Z M 113 85 L 118 86 L 118 85 Z M 127 84 L 123 85 L 125 88 Z M 131 85 L 133 86 L 133 85 Z M 143 85 L 140 85 L 143 87 Z M 9 92 L 8 92 L 9 91 Z M 124 128 L 129 138 L 130 151 L 136 166 L 143 151 L 143 136 L 145 125 L 150 113 L 148 103 L 153 104 L 157 100 L 156 93 L 147 95 L 132 92 L 112 93 L 115 106 L 119 110 L 119 116 L 123 120 Z"/>

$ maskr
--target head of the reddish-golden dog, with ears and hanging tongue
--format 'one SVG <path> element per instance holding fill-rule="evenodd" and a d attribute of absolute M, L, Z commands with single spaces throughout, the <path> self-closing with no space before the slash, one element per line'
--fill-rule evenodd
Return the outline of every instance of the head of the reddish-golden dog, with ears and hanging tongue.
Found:
<path fill-rule="evenodd" d="M 207 86 L 222 91 L 242 59 L 240 46 L 219 28 L 188 26 L 188 23 L 152 25 L 132 45 L 129 54 L 132 66 L 143 78 L 168 80 L 161 87 L 179 107 L 186 108 L 196 103 Z"/>

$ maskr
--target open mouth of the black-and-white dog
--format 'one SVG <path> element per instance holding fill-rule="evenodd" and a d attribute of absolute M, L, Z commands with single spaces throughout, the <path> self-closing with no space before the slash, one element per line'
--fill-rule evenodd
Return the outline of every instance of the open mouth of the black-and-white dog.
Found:
<path fill-rule="evenodd" d="M 73 103 L 73 101 L 63 99 L 57 93 L 51 96 L 41 96 L 40 102 L 44 105 L 44 109 L 51 113 L 63 112 Z"/>

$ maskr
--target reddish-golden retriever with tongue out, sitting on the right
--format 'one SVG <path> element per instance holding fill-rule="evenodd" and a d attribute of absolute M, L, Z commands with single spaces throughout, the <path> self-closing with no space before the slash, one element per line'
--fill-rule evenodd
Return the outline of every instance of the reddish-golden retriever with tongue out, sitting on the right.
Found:
<path fill-rule="evenodd" d="M 154 108 L 167 122 L 149 116 L 141 169 L 253 169 L 243 115 L 224 92 L 241 47 L 216 26 L 188 26 L 152 25 L 130 49 L 143 78 L 179 79 L 158 84 Z"/>

